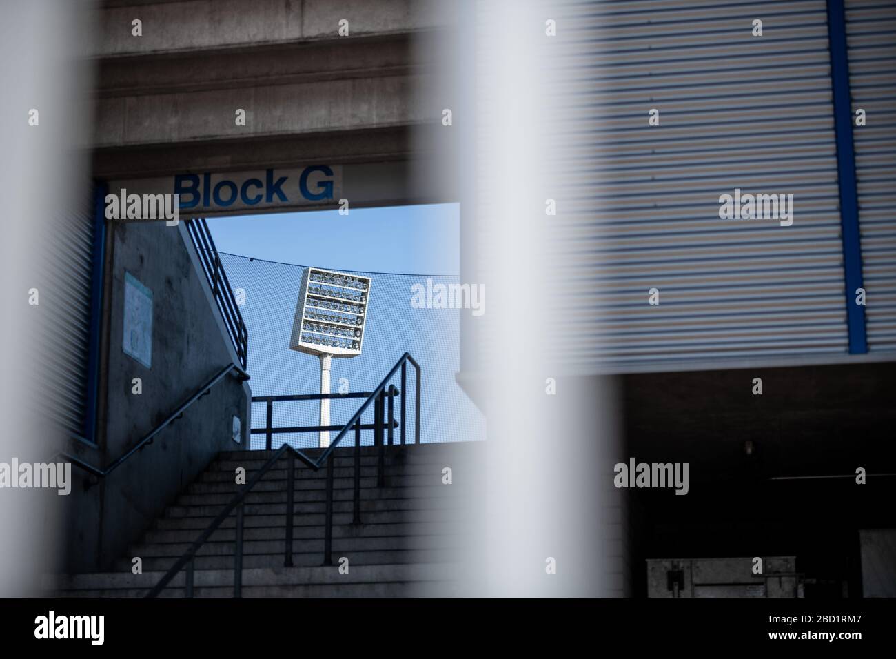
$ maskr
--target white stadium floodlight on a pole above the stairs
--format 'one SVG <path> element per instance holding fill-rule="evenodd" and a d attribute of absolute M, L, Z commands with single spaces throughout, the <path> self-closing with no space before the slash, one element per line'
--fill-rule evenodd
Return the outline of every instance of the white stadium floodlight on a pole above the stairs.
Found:
<path fill-rule="evenodd" d="M 330 393 L 332 358 L 361 354 L 369 303 L 369 277 L 321 268 L 302 274 L 289 349 L 320 358 L 321 394 Z M 330 425 L 329 398 L 321 398 L 320 425 Z M 330 446 L 329 430 L 321 430 L 320 446 Z"/>

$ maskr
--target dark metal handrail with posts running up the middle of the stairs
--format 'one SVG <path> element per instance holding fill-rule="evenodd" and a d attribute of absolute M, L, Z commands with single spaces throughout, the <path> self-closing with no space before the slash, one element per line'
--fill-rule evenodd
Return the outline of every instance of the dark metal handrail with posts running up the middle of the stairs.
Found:
<path fill-rule="evenodd" d="M 325 521 L 324 521 L 324 540 L 323 540 L 323 565 L 332 565 L 332 499 L 333 499 L 333 451 L 339 446 L 340 441 L 345 434 L 349 431 L 349 429 L 354 428 L 355 430 L 355 464 L 354 464 L 354 515 L 353 515 L 353 524 L 360 524 L 360 478 L 361 478 L 361 415 L 367 409 L 367 407 L 374 400 L 377 401 L 377 421 L 375 421 L 374 425 L 376 427 L 375 432 L 380 436 L 380 450 L 378 456 L 378 466 L 377 466 L 377 487 L 383 487 L 384 478 L 383 478 L 383 458 L 385 451 L 385 438 L 383 437 L 383 430 L 386 429 L 386 424 L 383 422 L 384 410 L 385 406 L 385 398 L 389 397 L 389 443 L 392 444 L 392 398 L 395 395 L 395 392 L 398 391 L 394 386 L 389 386 L 388 390 L 386 389 L 386 385 L 395 377 L 395 374 L 398 372 L 398 369 L 401 368 L 401 382 L 402 382 L 402 421 L 404 419 L 404 400 L 406 396 L 403 394 L 406 391 L 404 385 L 405 382 L 405 370 L 406 364 L 410 362 L 411 365 L 416 369 L 417 372 L 417 391 L 416 395 L 416 409 L 417 409 L 417 423 L 416 423 L 416 437 L 415 443 L 419 444 L 420 442 L 420 421 L 419 421 L 419 411 L 420 411 L 420 366 L 417 360 L 414 360 L 413 357 L 410 356 L 408 352 L 405 352 L 401 355 L 401 359 L 392 367 L 392 370 L 389 371 L 386 377 L 383 377 L 383 381 L 380 382 L 379 386 L 375 388 L 373 392 L 367 396 L 367 399 L 363 405 L 361 405 L 358 412 L 355 412 L 355 415 L 352 416 L 351 420 L 345 424 L 343 429 L 340 431 L 339 435 L 333 439 L 330 447 L 327 447 L 323 450 L 321 455 L 317 457 L 315 460 L 309 455 L 305 455 L 301 451 L 296 448 L 290 447 L 289 444 L 282 445 L 274 455 L 263 465 L 263 467 L 258 470 L 250 479 L 246 485 L 243 486 L 241 490 L 234 495 L 232 499 L 230 499 L 229 503 L 224 507 L 223 510 L 216 516 L 211 524 L 206 527 L 206 529 L 200 534 L 200 536 L 191 544 L 184 554 L 177 559 L 175 564 L 168 569 L 168 571 L 159 579 L 159 583 L 156 584 L 152 590 L 146 594 L 147 597 L 155 597 L 165 588 L 170 581 L 177 576 L 177 573 L 186 567 L 186 578 L 185 578 L 185 594 L 187 597 L 192 597 L 194 594 L 194 559 L 196 557 L 196 552 L 202 547 L 202 545 L 211 537 L 211 533 L 214 533 L 221 523 L 230 516 L 230 513 L 233 512 L 234 508 L 237 509 L 237 525 L 236 525 L 236 550 L 234 551 L 234 582 L 233 582 L 233 590 L 234 596 L 240 597 L 242 594 L 242 578 L 243 578 L 243 515 L 244 515 L 244 507 L 245 507 L 245 499 L 246 495 L 254 488 L 255 484 L 258 481 L 261 481 L 263 476 L 271 470 L 274 464 L 280 460 L 283 455 L 289 455 L 289 466 L 287 467 L 287 510 L 286 510 L 286 549 L 284 551 L 284 559 L 283 565 L 285 567 L 292 567 L 292 530 L 293 530 L 293 516 L 294 516 L 294 503 L 293 499 L 295 496 L 295 469 L 296 463 L 295 460 L 300 460 L 303 464 L 305 464 L 310 469 L 317 472 L 321 469 L 324 461 L 327 463 L 327 486 L 326 486 L 326 513 L 325 513 Z M 401 434 L 402 441 L 404 444 L 404 424 L 401 424 Z"/>

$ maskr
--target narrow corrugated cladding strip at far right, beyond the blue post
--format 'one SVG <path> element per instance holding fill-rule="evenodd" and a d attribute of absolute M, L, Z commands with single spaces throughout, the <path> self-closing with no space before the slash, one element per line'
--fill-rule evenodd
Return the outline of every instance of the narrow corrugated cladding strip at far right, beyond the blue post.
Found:
<path fill-rule="evenodd" d="M 896 3 L 847 0 L 849 87 L 868 351 L 896 349 Z M 854 122 L 855 123 L 855 122 Z"/>

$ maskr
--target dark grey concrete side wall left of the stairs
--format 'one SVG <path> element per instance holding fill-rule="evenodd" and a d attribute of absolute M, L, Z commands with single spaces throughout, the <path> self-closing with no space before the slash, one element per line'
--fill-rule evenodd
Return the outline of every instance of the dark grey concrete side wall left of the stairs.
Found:
<path fill-rule="evenodd" d="M 233 363 L 207 283 L 194 264 L 181 227 L 164 222 L 111 223 L 106 274 L 106 382 L 100 414 L 100 447 L 82 447 L 91 464 L 109 464 L 163 421 L 220 369 Z M 122 350 L 125 272 L 152 290 L 152 359 L 146 368 Z M 142 395 L 132 380 L 142 378 Z M 73 489 L 70 499 L 68 571 L 102 569 L 129 544 L 220 451 L 235 447 L 232 418 L 243 441 L 249 428 L 248 386 L 225 377 L 97 487 Z"/>

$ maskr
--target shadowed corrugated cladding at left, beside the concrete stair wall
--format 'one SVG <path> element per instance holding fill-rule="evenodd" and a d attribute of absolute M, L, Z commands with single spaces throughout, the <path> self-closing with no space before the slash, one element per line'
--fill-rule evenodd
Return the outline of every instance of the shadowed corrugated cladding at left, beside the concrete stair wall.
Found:
<path fill-rule="evenodd" d="M 91 186 L 85 189 L 92 193 Z M 87 412 L 93 212 L 88 194 L 81 207 L 60 222 L 65 230 L 50 238 L 49 282 L 40 290 L 40 306 L 47 309 L 45 344 L 55 351 L 48 361 L 52 372 L 43 378 L 50 390 L 40 395 L 50 416 L 80 436 L 85 434 Z"/>

